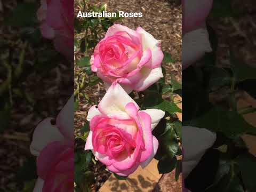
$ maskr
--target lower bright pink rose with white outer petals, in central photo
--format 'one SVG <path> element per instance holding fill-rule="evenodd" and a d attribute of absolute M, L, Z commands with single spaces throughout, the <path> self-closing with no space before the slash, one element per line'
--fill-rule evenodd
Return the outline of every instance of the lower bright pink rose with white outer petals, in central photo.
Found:
<path fill-rule="evenodd" d="M 121 176 L 147 166 L 158 148 L 152 130 L 165 112 L 139 109 L 121 85 L 113 83 L 98 107 L 92 106 L 87 115 L 90 133 L 85 150 L 92 150 L 110 171 Z"/>

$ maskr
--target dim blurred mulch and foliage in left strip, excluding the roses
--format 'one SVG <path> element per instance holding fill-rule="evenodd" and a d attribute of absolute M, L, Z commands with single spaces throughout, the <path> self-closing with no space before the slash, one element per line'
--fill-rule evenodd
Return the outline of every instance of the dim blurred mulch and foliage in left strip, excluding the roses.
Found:
<path fill-rule="evenodd" d="M 0 191 L 33 191 L 34 129 L 56 117 L 74 90 L 73 62 L 41 35 L 39 3 L 0 1 Z"/>

